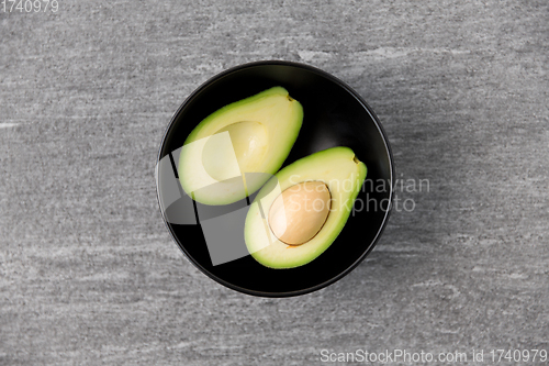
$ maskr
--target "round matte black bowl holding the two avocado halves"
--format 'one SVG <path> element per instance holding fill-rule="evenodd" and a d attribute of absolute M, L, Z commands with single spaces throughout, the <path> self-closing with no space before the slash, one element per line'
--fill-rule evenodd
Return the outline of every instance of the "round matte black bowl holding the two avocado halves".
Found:
<path fill-rule="evenodd" d="M 250 255 L 245 255 L 213 266 L 203 225 L 200 223 L 201 212 L 209 211 L 182 193 L 177 181 L 176 151 L 183 145 L 194 126 L 210 113 L 273 86 L 285 88 L 292 98 L 301 102 L 304 110 L 301 132 L 283 166 L 318 151 L 348 146 L 368 167 L 363 189 L 337 240 L 311 263 L 292 269 L 271 269 L 257 263 Z M 326 287 L 347 275 L 371 252 L 379 240 L 386 224 L 390 212 L 388 206 L 390 207 L 393 197 L 394 167 L 391 148 L 371 108 L 345 82 L 317 68 L 296 63 L 246 64 L 206 81 L 187 98 L 171 119 L 161 143 L 158 163 L 157 186 L 163 218 L 178 246 L 192 264 L 217 282 L 256 296 L 303 295 Z M 181 202 L 187 199 L 181 206 L 186 209 L 177 209 L 176 198 L 179 196 L 172 196 L 177 192 L 175 187 L 181 192 Z M 220 212 L 226 213 L 233 207 L 236 209 L 246 204 L 247 201 L 237 202 Z M 242 224 L 244 245 L 244 222 L 234 224 Z"/>

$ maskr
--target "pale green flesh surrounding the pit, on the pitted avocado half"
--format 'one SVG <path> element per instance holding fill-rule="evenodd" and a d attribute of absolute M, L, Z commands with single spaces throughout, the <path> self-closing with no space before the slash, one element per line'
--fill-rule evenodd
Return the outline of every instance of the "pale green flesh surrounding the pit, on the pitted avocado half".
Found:
<path fill-rule="evenodd" d="M 250 206 L 244 229 L 248 252 L 270 268 L 293 268 L 315 259 L 345 226 L 366 174 L 366 165 L 348 147 L 328 148 L 287 166 L 267 182 Z M 305 181 L 320 181 L 328 187 L 329 213 L 311 240 L 301 245 L 288 245 L 271 229 L 270 208 L 281 192 Z"/>

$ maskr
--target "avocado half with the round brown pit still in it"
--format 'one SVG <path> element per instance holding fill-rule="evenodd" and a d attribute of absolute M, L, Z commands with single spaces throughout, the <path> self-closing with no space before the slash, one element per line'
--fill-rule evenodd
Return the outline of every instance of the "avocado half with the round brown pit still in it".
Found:
<path fill-rule="evenodd" d="M 280 170 L 246 217 L 251 256 L 270 268 L 293 268 L 318 257 L 347 222 L 367 168 L 352 149 L 333 147 Z"/>

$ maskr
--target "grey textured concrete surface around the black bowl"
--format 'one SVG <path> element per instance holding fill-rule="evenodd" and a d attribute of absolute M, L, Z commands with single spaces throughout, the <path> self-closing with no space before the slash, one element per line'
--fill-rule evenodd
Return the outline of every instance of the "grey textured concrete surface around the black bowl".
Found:
<path fill-rule="evenodd" d="M 0 364 L 549 350 L 546 1 L 58 1 L 0 13 Z M 259 59 L 347 81 L 399 178 L 430 181 L 397 191 L 415 210 L 366 262 L 300 298 L 202 275 L 155 196 L 178 106 Z"/>

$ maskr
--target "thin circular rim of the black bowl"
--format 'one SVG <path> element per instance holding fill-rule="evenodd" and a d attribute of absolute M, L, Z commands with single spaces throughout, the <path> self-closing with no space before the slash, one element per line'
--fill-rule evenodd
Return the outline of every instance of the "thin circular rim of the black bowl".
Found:
<path fill-rule="evenodd" d="M 216 80 L 219 80 L 219 79 L 221 79 L 221 78 L 223 78 L 223 77 L 225 77 L 225 76 L 227 76 L 229 74 L 233 74 L 233 73 L 246 69 L 246 68 L 257 67 L 257 66 L 291 66 L 291 67 L 301 68 L 301 69 L 305 69 L 305 70 L 309 70 L 309 71 L 312 71 L 314 74 L 317 74 L 321 77 L 324 77 L 324 78 L 326 78 L 326 79 L 328 79 L 328 80 L 337 84 L 339 87 L 341 87 L 343 89 L 345 89 L 349 95 L 351 95 L 352 97 L 355 97 L 355 99 L 362 106 L 362 108 L 368 112 L 368 114 L 370 114 L 372 121 L 374 122 L 376 126 L 378 127 L 378 131 L 379 131 L 379 133 L 380 133 L 380 135 L 381 135 L 381 137 L 383 140 L 383 144 L 385 146 L 385 149 L 386 149 L 386 153 L 388 153 L 388 156 L 389 156 L 390 176 L 391 176 L 390 180 L 391 180 L 391 184 L 389 185 L 390 192 L 389 192 L 388 209 L 385 211 L 385 215 L 383 218 L 383 221 L 381 222 L 381 225 L 378 229 L 378 232 L 377 232 L 374 239 L 371 241 L 371 243 L 368 246 L 368 248 L 350 266 L 348 266 L 345 270 L 343 270 L 338 275 L 332 277 L 330 279 L 328 279 L 328 280 L 326 280 L 324 282 L 321 282 L 318 285 L 315 285 L 313 287 L 309 287 L 309 288 L 300 289 L 300 290 L 295 290 L 295 291 L 287 291 L 287 292 L 256 291 L 256 290 L 250 290 L 250 289 L 247 289 L 247 288 L 243 288 L 243 287 L 236 286 L 234 284 L 231 284 L 231 282 L 228 282 L 228 281 L 226 281 L 226 280 L 224 280 L 224 279 L 222 279 L 222 278 L 213 275 L 210 270 L 208 270 L 201 264 L 199 264 L 197 260 L 194 260 L 194 258 L 189 253 L 187 253 L 187 251 L 184 249 L 183 245 L 181 244 L 181 242 L 179 241 L 179 239 L 176 236 L 176 234 L 171 230 L 170 225 L 168 224 L 168 221 L 166 220 L 166 218 L 164 215 L 164 212 L 163 212 L 163 209 L 161 209 L 161 204 L 160 204 L 159 176 L 158 176 L 158 173 L 155 171 L 156 198 L 157 198 L 158 206 L 159 206 L 159 209 L 160 209 L 160 215 L 163 218 L 163 221 L 164 221 L 166 228 L 168 229 L 168 232 L 171 235 L 171 239 L 176 242 L 176 244 L 179 247 L 179 249 L 183 253 L 184 257 L 187 257 L 187 259 L 190 263 L 192 263 L 198 269 L 200 269 L 200 271 L 202 271 L 204 275 L 206 275 L 208 277 L 210 277 L 211 279 L 213 279 L 214 281 L 216 281 L 217 284 L 223 285 L 223 286 L 225 286 L 225 287 L 227 287 L 227 288 L 229 288 L 232 290 L 235 290 L 235 291 L 238 291 L 238 292 L 242 292 L 242 293 L 246 293 L 246 295 L 256 296 L 256 297 L 264 297 L 264 298 L 288 298 L 288 297 L 294 297 L 294 296 L 301 296 L 301 295 L 311 293 L 311 292 L 314 292 L 314 291 L 317 291 L 320 289 L 328 287 L 329 285 L 332 285 L 332 284 L 338 281 L 339 279 L 344 278 L 345 276 L 347 276 L 350 271 L 352 271 L 372 252 L 372 249 L 378 244 L 378 242 L 379 242 L 382 233 L 384 232 L 384 230 L 386 228 L 386 224 L 388 224 L 388 221 L 389 221 L 389 218 L 390 218 L 391 212 L 393 210 L 393 197 L 394 197 L 394 187 L 393 187 L 393 185 L 394 185 L 394 177 L 395 177 L 394 158 L 393 158 L 393 153 L 392 153 L 392 149 L 391 149 L 391 145 L 389 143 L 389 137 L 386 135 L 385 130 L 381 125 L 381 122 L 380 122 L 378 115 L 372 110 L 372 108 L 365 101 L 365 99 L 358 92 L 356 92 L 351 87 L 349 87 L 345 81 L 340 80 L 339 78 L 333 76 L 332 74 L 329 74 L 327 71 L 324 71 L 324 70 L 322 70 L 320 68 L 316 68 L 314 66 L 311 66 L 311 65 L 306 65 L 306 64 L 302 64 L 302 63 L 296 63 L 296 62 L 289 62 L 289 60 L 270 59 L 270 60 L 251 62 L 251 63 L 240 64 L 240 65 L 231 67 L 231 68 L 228 68 L 226 70 L 223 70 L 223 71 L 214 75 L 213 77 L 209 78 L 206 81 L 202 82 L 197 89 L 194 89 L 184 99 L 184 101 L 179 106 L 179 108 L 176 110 L 176 112 L 171 115 L 170 121 L 168 123 L 168 126 L 166 127 L 166 130 L 164 132 L 164 135 L 163 135 L 163 140 L 161 140 L 160 148 L 158 151 L 158 155 L 157 155 L 157 158 L 156 158 L 155 167 L 158 166 L 158 162 L 160 162 L 160 159 L 161 159 L 161 154 L 163 154 L 163 151 L 164 151 L 165 145 L 166 145 L 166 138 L 167 138 L 168 133 L 170 132 L 170 130 L 172 127 L 172 124 L 177 120 L 177 117 L 179 115 L 179 113 L 187 107 L 187 104 L 189 104 L 189 102 L 198 93 L 200 93 L 202 90 L 204 90 L 205 88 L 208 88 L 212 82 L 214 82 L 214 81 L 216 81 Z"/>

